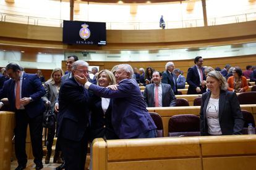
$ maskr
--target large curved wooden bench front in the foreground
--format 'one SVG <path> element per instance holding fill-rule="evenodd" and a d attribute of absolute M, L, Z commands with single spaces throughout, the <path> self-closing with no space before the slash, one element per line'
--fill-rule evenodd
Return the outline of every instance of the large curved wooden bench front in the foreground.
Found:
<path fill-rule="evenodd" d="M 256 169 L 256 136 L 93 141 L 93 170 Z"/>

